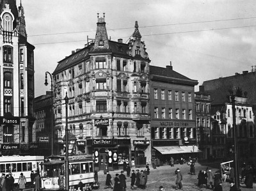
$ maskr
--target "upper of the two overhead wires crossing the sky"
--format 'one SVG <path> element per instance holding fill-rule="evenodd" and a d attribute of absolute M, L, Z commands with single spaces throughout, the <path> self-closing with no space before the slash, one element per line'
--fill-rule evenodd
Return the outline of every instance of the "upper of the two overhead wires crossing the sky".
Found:
<path fill-rule="evenodd" d="M 220 19 L 220 20 L 205 20 L 205 21 L 196 21 L 196 22 L 181 22 L 181 23 L 174 23 L 174 24 L 160 24 L 160 25 L 153 25 L 153 26 L 140 26 L 140 28 L 147 28 L 147 27 L 161 27 L 161 26 L 177 26 L 177 25 L 185 25 L 185 24 L 199 24 L 199 23 L 207 23 L 207 22 L 221 22 L 221 21 L 228 21 L 228 20 L 243 20 L 243 19 L 256 19 L 256 17 L 243 17 L 243 18 L 236 18 L 236 19 Z M 122 30 L 122 29 L 133 29 L 134 27 L 122 27 L 117 29 L 108 29 L 109 31 L 115 30 Z M 74 31 L 74 32 L 65 32 L 65 33 L 49 33 L 49 34 L 33 34 L 28 36 L 48 36 L 48 35 L 56 35 L 56 34 L 73 34 L 73 33 L 90 33 L 95 32 L 93 31 Z"/>

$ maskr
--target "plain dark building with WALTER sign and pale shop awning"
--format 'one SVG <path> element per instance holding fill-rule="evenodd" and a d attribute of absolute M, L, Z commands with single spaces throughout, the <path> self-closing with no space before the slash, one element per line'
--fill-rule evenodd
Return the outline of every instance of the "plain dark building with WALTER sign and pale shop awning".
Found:
<path fill-rule="evenodd" d="M 166 68 L 150 66 L 152 162 L 198 156 L 195 123 L 197 80 Z"/>

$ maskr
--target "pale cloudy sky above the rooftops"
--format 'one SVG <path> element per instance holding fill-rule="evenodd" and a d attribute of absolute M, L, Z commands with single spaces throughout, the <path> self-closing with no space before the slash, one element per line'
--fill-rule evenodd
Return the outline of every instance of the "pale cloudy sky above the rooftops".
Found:
<path fill-rule="evenodd" d="M 127 42 L 138 21 L 150 65 L 172 61 L 173 70 L 198 86 L 256 65 L 254 0 L 22 0 L 22 6 L 28 42 L 35 45 L 35 96 L 51 89 L 45 72 L 95 38 L 97 13 L 105 13 L 115 41 Z"/>

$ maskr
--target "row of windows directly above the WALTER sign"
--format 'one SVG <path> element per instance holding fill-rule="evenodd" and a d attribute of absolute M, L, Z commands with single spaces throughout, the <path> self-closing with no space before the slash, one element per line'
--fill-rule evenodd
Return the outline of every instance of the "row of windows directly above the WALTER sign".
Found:
<path fill-rule="evenodd" d="M 154 118 L 160 119 L 192 119 L 192 110 L 191 109 L 182 109 L 182 113 L 180 114 L 180 109 L 168 108 L 166 111 L 165 107 L 161 108 L 161 112 L 159 112 L 158 107 L 154 108 Z M 188 114 L 187 114 L 188 112 Z"/>

